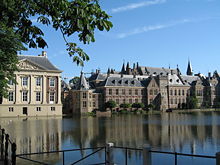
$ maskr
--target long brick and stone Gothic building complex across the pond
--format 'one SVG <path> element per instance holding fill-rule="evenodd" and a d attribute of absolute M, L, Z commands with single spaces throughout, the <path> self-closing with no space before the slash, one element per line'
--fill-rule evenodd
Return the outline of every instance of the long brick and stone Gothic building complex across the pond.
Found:
<path fill-rule="evenodd" d="M 72 112 L 102 110 L 110 100 L 117 103 L 116 110 L 124 103 L 152 104 L 157 110 L 182 109 L 188 107 L 191 96 L 197 98 L 198 107 L 214 107 L 220 102 L 217 72 L 213 76 L 209 74 L 209 77 L 192 75 L 190 62 L 187 75 L 182 75 L 179 68 L 143 67 L 138 63 L 133 68 L 129 66 L 129 63 L 126 67 L 123 64 L 119 72 L 110 68 L 106 74 L 97 71 L 88 79 L 81 73 L 79 83 L 70 92 L 73 95 Z M 99 97 L 90 99 L 90 95 Z M 90 106 L 93 102 L 99 106 Z"/>

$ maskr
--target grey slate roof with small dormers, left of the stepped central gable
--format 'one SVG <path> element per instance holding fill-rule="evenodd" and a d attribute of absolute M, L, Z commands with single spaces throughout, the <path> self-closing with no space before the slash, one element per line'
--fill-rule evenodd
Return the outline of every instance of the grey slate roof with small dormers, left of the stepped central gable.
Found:
<path fill-rule="evenodd" d="M 136 78 L 108 77 L 104 86 L 144 87 L 144 84 Z"/>

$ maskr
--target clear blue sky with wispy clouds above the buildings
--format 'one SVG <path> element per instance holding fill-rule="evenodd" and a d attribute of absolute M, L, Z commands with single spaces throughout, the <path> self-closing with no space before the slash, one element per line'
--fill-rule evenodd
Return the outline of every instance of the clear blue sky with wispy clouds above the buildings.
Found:
<path fill-rule="evenodd" d="M 186 74 L 188 60 L 194 73 L 220 72 L 220 0 L 100 0 L 113 28 L 95 31 L 95 43 L 83 45 L 89 62 L 82 68 L 72 62 L 60 32 L 40 25 L 48 43 L 49 60 L 62 77 L 79 76 L 81 70 L 121 70 L 123 62 L 140 66 L 176 68 Z M 36 23 L 37 24 L 37 23 Z M 38 55 L 29 49 L 24 55 Z"/>

